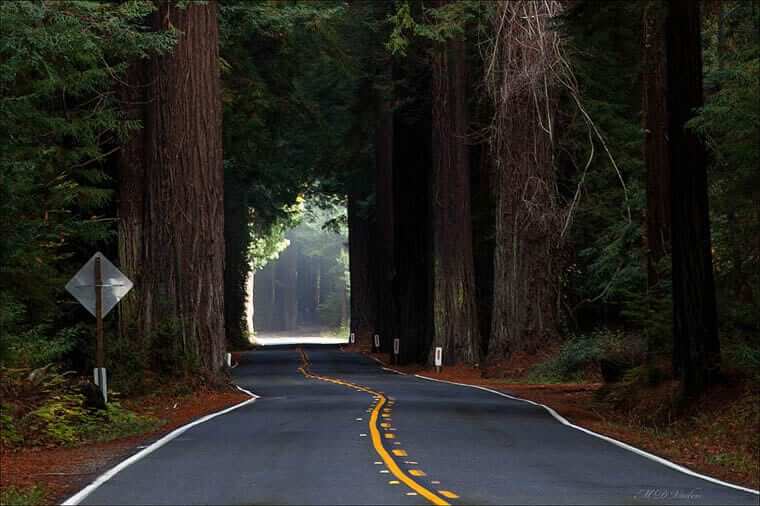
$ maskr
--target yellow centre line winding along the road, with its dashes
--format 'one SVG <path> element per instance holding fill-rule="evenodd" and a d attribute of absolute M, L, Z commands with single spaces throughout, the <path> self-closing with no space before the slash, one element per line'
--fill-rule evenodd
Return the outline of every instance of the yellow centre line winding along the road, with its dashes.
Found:
<path fill-rule="evenodd" d="M 370 414 L 369 419 L 369 431 L 372 435 L 372 446 L 375 447 L 375 451 L 380 456 L 380 458 L 385 462 L 385 465 L 388 467 L 388 470 L 398 478 L 400 482 L 402 482 L 407 487 L 411 488 L 414 492 L 407 492 L 406 495 L 421 495 L 428 501 L 430 501 L 431 504 L 435 504 L 437 506 L 450 506 L 450 504 L 440 497 L 438 494 L 433 492 L 432 490 L 429 490 L 425 488 L 424 486 L 417 483 L 414 479 L 412 479 L 409 475 L 407 475 L 400 467 L 398 467 L 398 464 L 396 464 L 396 461 L 391 457 L 390 453 L 388 453 L 388 450 L 385 449 L 383 446 L 383 441 L 380 438 L 380 430 L 377 428 L 378 425 L 378 418 L 380 415 L 380 411 L 383 409 L 383 406 L 388 402 L 387 398 L 384 394 L 377 392 L 375 390 L 372 390 L 370 388 L 364 387 L 362 385 L 357 385 L 355 383 L 349 383 L 346 381 L 342 381 L 335 378 L 329 378 L 326 376 L 319 376 L 317 374 L 309 372 L 309 358 L 306 355 L 306 353 L 299 348 L 298 350 L 301 353 L 301 360 L 303 361 L 303 365 L 298 369 L 301 371 L 301 373 L 306 376 L 307 378 L 314 378 L 322 381 L 327 381 L 329 383 L 335 383 L 336 385 L 343 385 L 347 386 L 349 388 L 354 388 L 356 390 L 360 390 L 362 392 L 366 392 L 370 395 L 375 396 L 377 399 L 377 403 L 375 404 L 374 409 L 372 409 L 372 412 Z M 386 408 L 388 409 L 388 408 Z M 389 418 L 390 414 L 383 413 L 383 418 Z M 388 421 L 388 420 L 386 420 Z M 386 433 L 385 437 L 388 439 L 392 439 L 395 436 L 390 433 Z M 422 474 L 414 474 L 414 471 L 418 471 Z M 409 474 L 412 474 L 414 476 L 425 476 L 425 473 L 420 470 L 411 470 L 409 471 Z M 395 481 L 395 480 L 394 480 Z"/>

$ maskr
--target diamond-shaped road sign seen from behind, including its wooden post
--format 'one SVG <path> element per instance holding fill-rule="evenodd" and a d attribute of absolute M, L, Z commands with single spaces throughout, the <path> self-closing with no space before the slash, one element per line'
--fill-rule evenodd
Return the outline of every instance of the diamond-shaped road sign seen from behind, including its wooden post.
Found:
<path fill-rule="evenodd" d="M 108 402 L 108 376 L 103 337 L 103 318 L 132 289 L 129 280 L 102 253 L 95 253 L 73 278 L 66 290 L 95 317 L 95 369 L 93 380 Z"/>

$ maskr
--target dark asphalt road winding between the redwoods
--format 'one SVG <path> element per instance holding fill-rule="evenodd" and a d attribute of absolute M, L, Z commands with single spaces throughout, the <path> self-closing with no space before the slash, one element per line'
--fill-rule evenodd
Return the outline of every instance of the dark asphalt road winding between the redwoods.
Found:
<path fill-rule="evenodd" d="M 193 427 L 83 503 L 758 504 L 540 407 L 383 371 L 335 347 L 257 350 L 235 380 L 261 398 Z"/>

